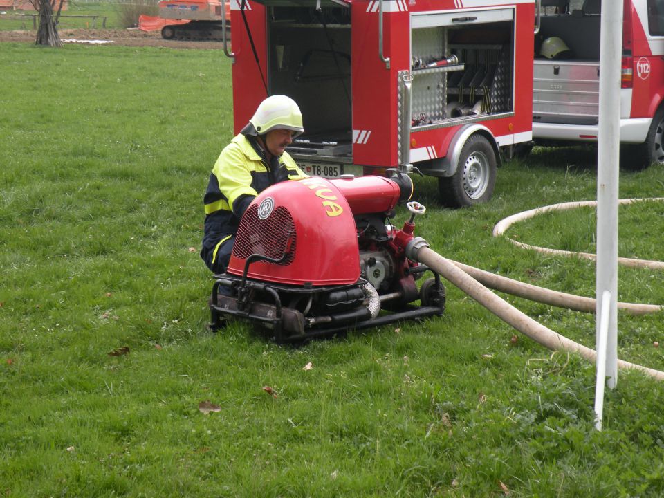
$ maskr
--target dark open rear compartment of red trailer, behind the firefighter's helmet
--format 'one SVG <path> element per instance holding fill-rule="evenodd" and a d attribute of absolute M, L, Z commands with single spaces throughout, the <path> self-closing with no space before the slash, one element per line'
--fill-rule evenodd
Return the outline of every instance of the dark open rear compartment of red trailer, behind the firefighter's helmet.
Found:
<path fill-rule="evenodd" d="M 289 95 L 305 116 L 306 138 L 288 151 L 350 157 L 351 25 L 349 8 L 274 6 L 268 25 L 271 94 Z"/>

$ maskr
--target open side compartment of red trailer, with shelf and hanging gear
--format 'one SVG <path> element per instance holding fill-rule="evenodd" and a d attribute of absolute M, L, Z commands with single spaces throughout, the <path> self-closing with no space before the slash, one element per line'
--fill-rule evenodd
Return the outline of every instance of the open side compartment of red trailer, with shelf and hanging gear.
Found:
<path fill-rule="evenodd" d="M 513 10 L 456 16 L 413 17 L 414 131 L 513 112 Z"/>

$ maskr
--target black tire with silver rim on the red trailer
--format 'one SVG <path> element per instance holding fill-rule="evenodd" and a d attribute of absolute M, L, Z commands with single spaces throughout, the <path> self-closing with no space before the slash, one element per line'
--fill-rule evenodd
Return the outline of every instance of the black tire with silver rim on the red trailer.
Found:
<path fill-rule="evenodd" d="M 441 202 L 450 208 L 486 203 L 496 185 L 498 163 L 489 141 L 475 133 L 461 149 L 457 171 L 438 178 Z"/>

